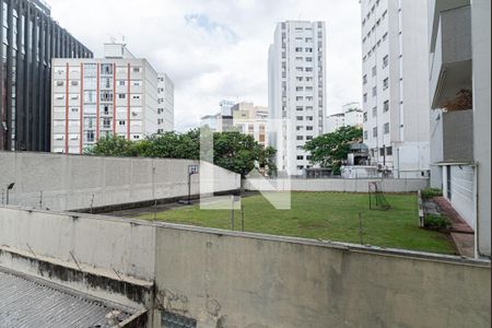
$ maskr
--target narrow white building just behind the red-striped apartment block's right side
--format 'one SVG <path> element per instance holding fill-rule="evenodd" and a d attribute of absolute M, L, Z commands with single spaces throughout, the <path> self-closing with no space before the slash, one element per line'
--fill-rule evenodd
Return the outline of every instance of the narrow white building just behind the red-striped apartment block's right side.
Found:
<path fill-rule="evenodd" d="M 167 74 L 159 74 L 157 94 L 157 132 L 174 131 L 174 84 Z"/>

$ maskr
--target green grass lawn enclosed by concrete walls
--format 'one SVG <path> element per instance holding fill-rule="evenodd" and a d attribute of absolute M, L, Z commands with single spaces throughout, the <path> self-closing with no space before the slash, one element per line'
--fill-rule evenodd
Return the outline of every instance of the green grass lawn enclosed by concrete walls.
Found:
<path fill-rule="evenodd" d="M 419 229 L 415 195 L 387 195 L 389 211 L 368 209 L 362 194 L 294 192 L 292 210 L 276 210 L 261 196 L 243 198 L 245 231 L 345 243 L 360 243 L 359 213 L 363 216 L 363 243 L 374 246 L 455 254 L 448 236 Z M 236 211 L 236 230 L 241 214 Z M 151 220 L 153 214 L 139 219 Z M 231 211 L 186 207 L 157 214 L 157 220 L 231 230 Z"/>

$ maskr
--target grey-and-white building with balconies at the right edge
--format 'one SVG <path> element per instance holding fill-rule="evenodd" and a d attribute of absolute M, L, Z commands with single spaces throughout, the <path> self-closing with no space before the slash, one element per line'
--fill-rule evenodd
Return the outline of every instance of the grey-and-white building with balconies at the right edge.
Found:
<path fill-rule="evenodd" d="M 429 12 L 431 185 L 475 231 L 476 256 L 490 257 L 491 1 L 431 0 Z"/>

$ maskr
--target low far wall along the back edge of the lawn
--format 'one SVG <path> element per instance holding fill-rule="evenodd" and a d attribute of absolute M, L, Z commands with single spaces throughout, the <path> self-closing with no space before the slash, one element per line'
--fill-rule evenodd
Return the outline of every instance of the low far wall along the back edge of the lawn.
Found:
<path fill-rule="evenodd" d="M 244 181 L 247 190 L 368 192 L 368 184 L 380 181 L 385 192 L 417 192 L 429 187 L 429 179 L 257 179 Z"/>

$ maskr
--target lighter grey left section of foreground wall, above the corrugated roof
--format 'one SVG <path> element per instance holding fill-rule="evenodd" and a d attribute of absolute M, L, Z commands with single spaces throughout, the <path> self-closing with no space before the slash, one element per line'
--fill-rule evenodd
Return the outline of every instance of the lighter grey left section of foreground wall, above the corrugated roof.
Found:
<path fill-rule="evenodd" d="M 144 222 L 0 207 L 0 246 L 72 265 L 74 257 L 82 268 L 152 281 L 154 245 Z"/>

